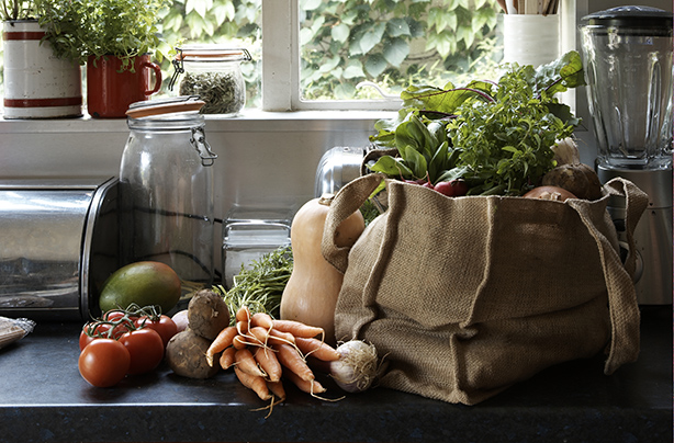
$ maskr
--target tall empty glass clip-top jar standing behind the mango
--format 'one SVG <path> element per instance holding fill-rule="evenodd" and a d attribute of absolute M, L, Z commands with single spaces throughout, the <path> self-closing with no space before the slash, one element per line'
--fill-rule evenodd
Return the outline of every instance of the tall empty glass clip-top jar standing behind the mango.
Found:
<path fill-rule="evenodd" d="M 196 96 L 137 102 L 120 167 L 122 264 L 159 261 L 189 295 L 213 284 L 213 162 Z"/>

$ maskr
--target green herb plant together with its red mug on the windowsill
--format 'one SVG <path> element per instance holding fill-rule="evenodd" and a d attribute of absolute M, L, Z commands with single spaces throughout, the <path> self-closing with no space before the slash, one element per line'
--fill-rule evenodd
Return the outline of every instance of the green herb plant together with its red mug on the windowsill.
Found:
<path fill-rule="evenodd" d="M 166 47 L 157 22 L 168 0 L 34 1 L 55 53 L 87 65 L 91 116 L 125 117 L 131 103 L 159 90 L 161 70 L 150 57 Z"/>

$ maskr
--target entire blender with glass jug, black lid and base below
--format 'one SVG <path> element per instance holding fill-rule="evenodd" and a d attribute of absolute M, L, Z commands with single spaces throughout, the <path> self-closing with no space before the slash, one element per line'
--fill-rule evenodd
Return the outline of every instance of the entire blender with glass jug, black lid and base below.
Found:
<path fill-rule="evenodd" d="M 622 177 L 649 194 L 634 231 L 640 305 L 672 304 L 672 20 L 619 7 L 581 22 L 599 179 Z M 620 219 L 619 204 L 608 209 Z"/>

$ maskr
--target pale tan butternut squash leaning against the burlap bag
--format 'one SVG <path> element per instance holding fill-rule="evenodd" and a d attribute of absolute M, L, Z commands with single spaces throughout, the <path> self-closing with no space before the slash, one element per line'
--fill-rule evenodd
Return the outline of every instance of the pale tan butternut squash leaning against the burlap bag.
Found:
<path fill-rule="evenodd" d="M 334 345 L 335 306 L 344 274 L 328 263 L 321 252 L 323 229 L 332 201 L 332 194 L 313 198 L 293 218 L 290 229 L 293 270 L 281 296 L 280 316 L 284 320 L 323 328 L 325 342 Z M 350 247 L 363 230 L 363 216 L 356 211 L 339 225 L 335 243 Z"/>

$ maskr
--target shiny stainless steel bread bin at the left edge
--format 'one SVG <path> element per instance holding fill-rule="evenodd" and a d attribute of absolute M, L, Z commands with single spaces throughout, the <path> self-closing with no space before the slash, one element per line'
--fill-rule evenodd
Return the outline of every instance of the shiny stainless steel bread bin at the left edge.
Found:
<path fill-rule="evenodd" d="M 82 320 L 119 268 L 117 179 L 0 180 L 0 315 Z"/>

